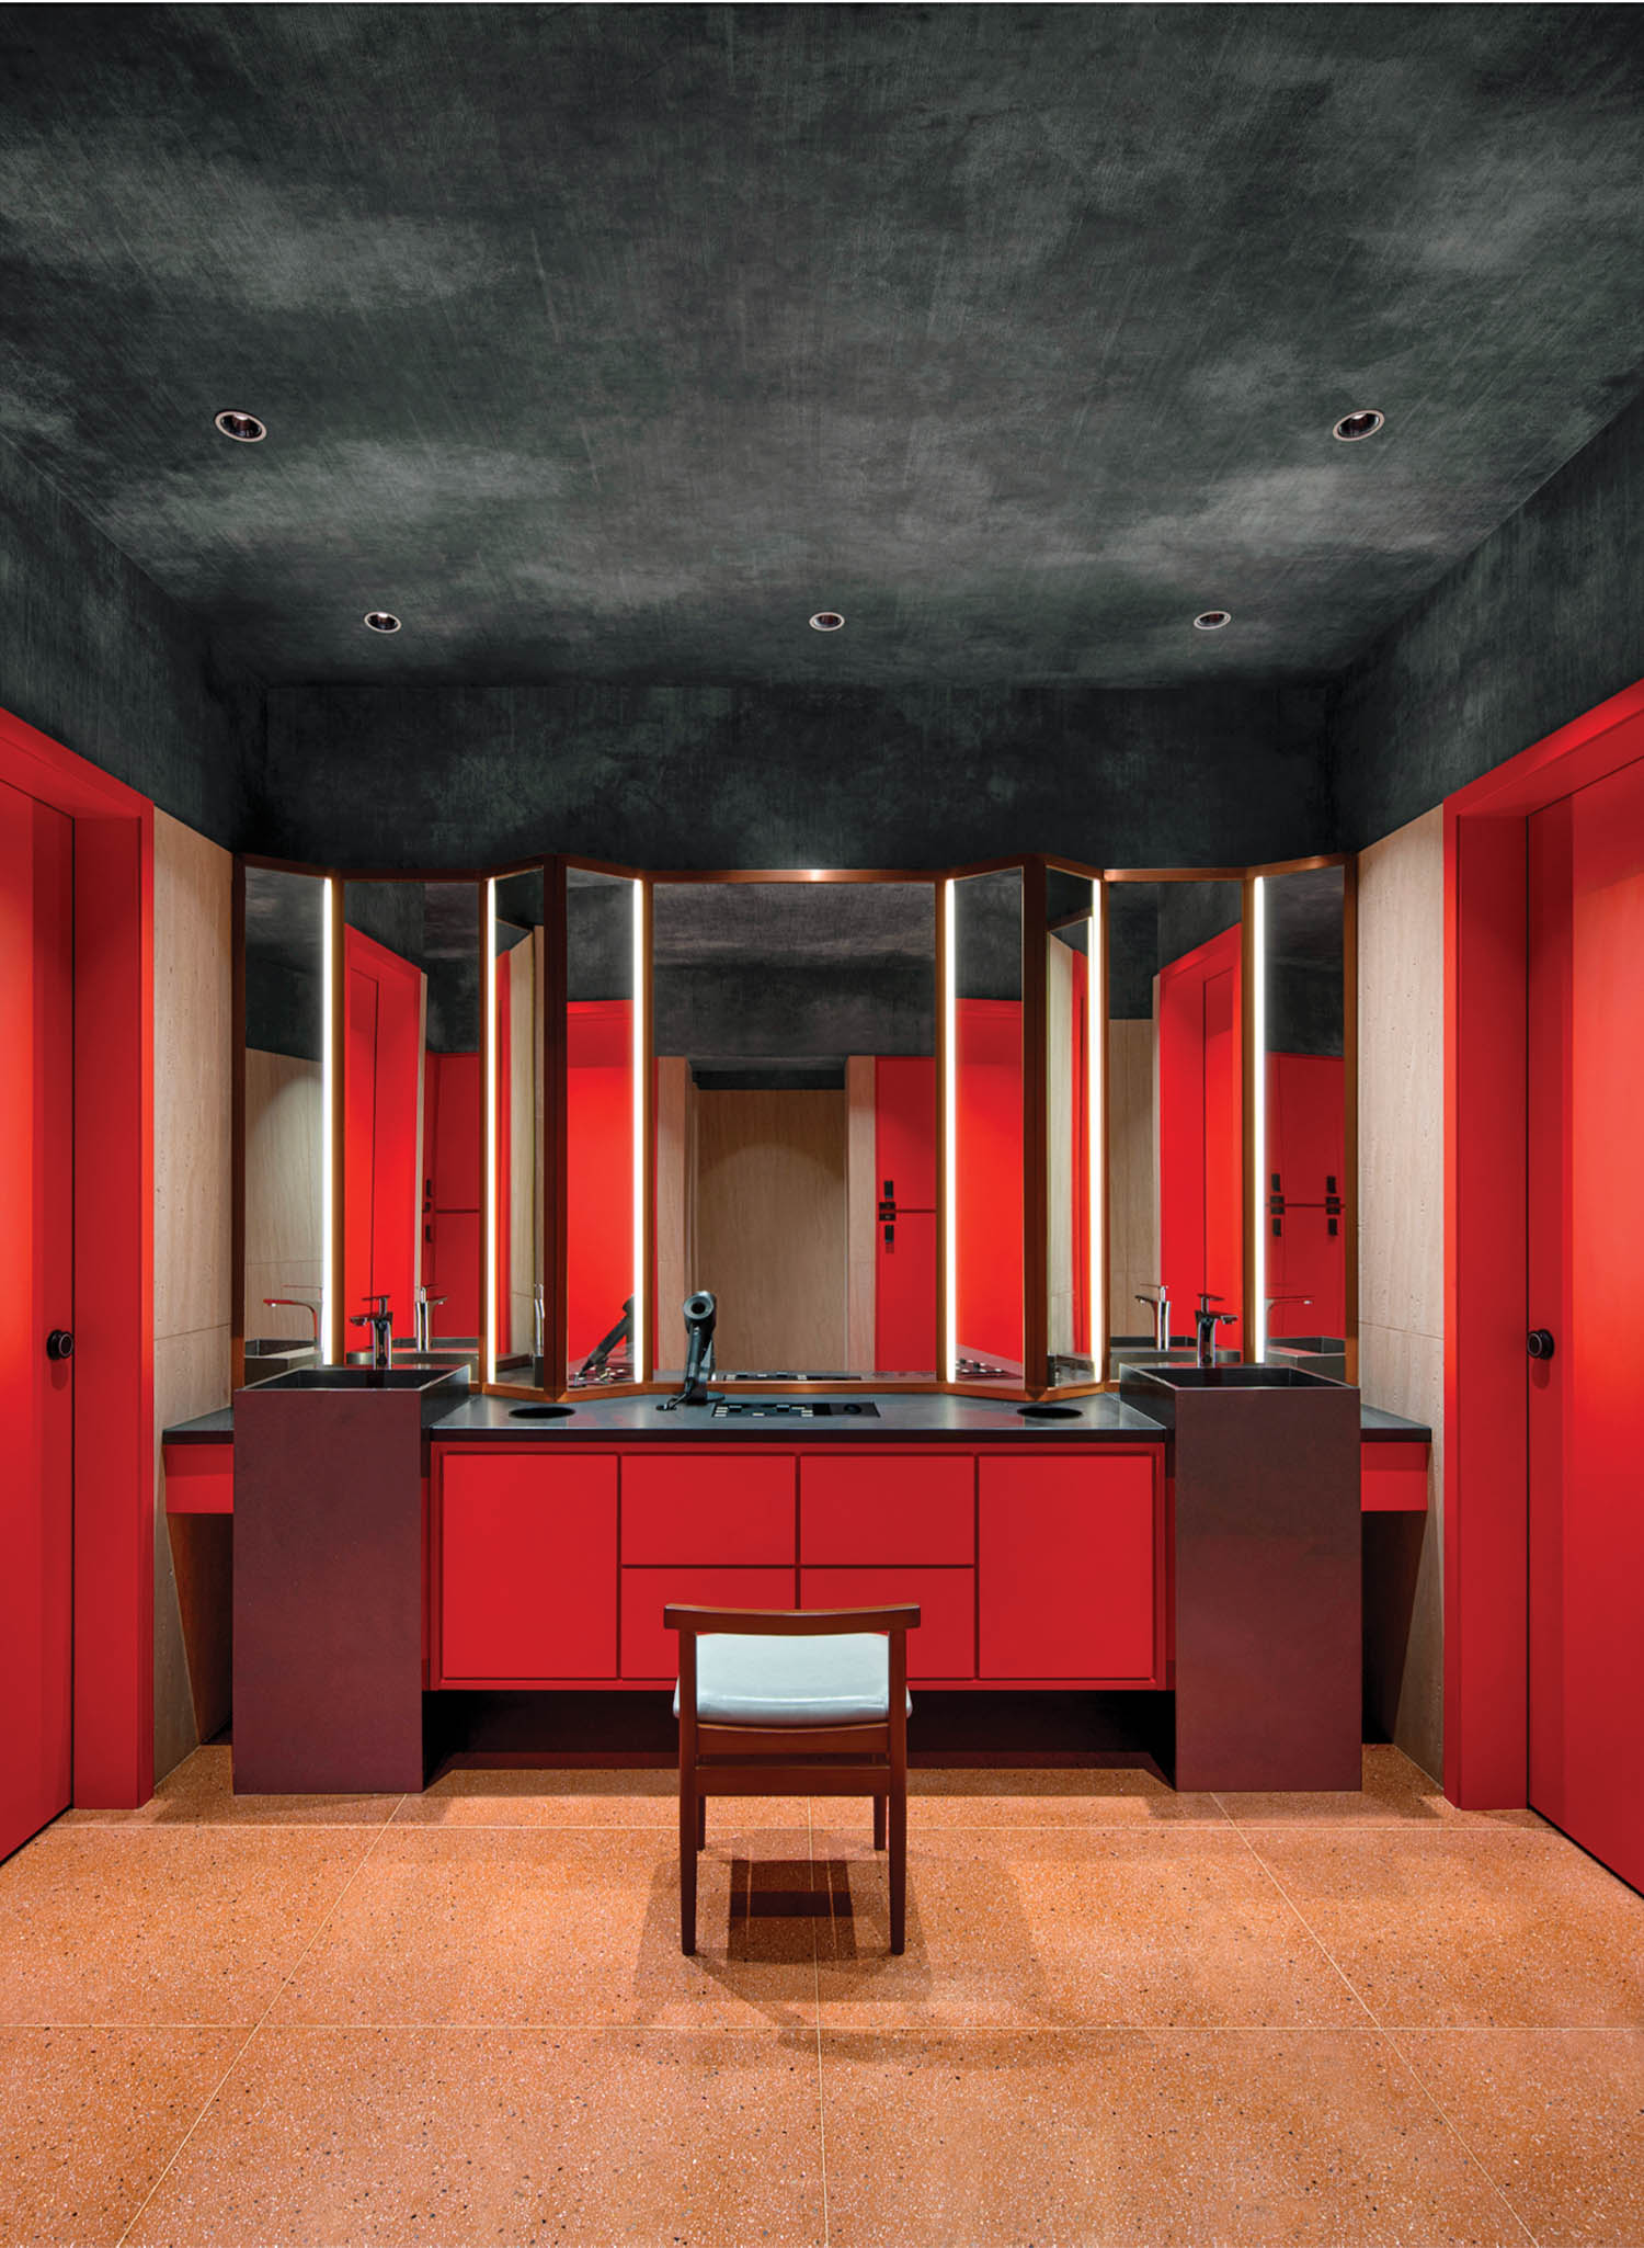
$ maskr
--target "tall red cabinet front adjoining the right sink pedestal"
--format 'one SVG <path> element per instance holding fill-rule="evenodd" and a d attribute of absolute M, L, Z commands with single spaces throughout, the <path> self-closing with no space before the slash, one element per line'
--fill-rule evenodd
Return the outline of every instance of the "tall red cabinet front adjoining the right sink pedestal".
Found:
<path fill-rule="evenodd" d="M 1159 1459 L 984 1459 L 979 1677 L 1157 1675 Z"/>

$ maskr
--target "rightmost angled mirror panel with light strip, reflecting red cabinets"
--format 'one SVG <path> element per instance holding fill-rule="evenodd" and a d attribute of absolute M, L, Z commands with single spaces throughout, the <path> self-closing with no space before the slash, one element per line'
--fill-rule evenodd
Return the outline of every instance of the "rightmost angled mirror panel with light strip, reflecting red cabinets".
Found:
<path fill-rule="evenodd" d="M 1251 883 L 1260 1014 L 1253 1120 L 1260 1250 L 1253 1356 L 1345 1380 L 1345 870 Z"/>

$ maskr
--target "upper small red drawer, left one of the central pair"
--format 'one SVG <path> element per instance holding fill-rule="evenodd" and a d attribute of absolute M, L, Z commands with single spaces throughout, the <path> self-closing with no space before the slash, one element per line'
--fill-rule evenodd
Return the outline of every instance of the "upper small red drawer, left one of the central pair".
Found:
<path fill-rule="evenodd" d="M 793 1565 L 793 1454 L 622 1454 L 624 1562 Z"/>

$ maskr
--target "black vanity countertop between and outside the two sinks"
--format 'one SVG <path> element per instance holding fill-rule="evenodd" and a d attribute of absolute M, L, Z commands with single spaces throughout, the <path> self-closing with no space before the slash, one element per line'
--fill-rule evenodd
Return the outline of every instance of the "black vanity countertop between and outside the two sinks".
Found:
<path fill-rule="evenodd" d="M 1163 1430 L 1134 1405 L 1121 1405 L 1116 1392 L 1078 1401 L 1074 1421 L 1031 1421 L 1015 1405 L 999 1398 L 952 1398 L 910 1396 L 907 1392 L 867 1392 L 862 1396 L 831 1398 L 829 1403 L 878 1405 L 878 1418 L 858 1414 L 831 1414 L 824 1421 L 770 1421 L 734 1418 L 716 1421 L 712 1412 L 689 1407 L 681 1412 L 658 1412 L 656 1398 L 588 1398 L 577 1403 L 564 1421 L 517 1421 L 512 1405 L 517 1398 L 465 1396 L 429 1434 L 442 1441 L 463 1443 L 577 1443 L 588 1436 L 624 1443 L 874 1443 L 894 1436 L 905 1441 L 916 1436 L 925 1443 L 977 1443 L 993 1439 L 999 1443 L 1150 1443 L 1163 1441 Z M 739 1403 L 755 1403 L 752 1398 Z M 788 1403 L 768 1398 L 764 1403 Z M 1366 1443 L 1428 1443 L 1433 1432 L 1419 1421 L 1401 1421 L 1379 1405 L 1361 1405 L 1361 1427 Z M 195 1421 L 180 1421 L 164 1432 L 166 1443 L 231 1443 L 234 1407 L 200 1414 Z"/>

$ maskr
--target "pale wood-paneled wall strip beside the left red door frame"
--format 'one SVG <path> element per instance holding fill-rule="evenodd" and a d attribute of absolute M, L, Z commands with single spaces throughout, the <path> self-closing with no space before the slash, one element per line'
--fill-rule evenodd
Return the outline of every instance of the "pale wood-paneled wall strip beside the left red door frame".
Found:
<path fill-rule="evenodd" d="M 159 1430 L 229 1403 L 229 852 L 155 814 L 155 1780 L 229 1715 L 227 1515 L 166 1520 Z"/>

